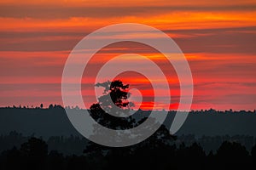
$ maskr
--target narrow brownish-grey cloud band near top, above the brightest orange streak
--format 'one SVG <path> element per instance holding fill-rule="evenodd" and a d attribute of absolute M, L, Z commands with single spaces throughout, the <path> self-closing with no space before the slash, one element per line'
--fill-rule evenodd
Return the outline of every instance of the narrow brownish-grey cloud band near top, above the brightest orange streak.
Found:
<path fill-rule="evenodd" d="M 161 6 L 161 7 L 61 7 L 45 5 L 1 5 L 0 17 L 63 19 L 70 17 L 108 18 L 166 14 L 175 11 L 255 11 L 256 5 Z"/>

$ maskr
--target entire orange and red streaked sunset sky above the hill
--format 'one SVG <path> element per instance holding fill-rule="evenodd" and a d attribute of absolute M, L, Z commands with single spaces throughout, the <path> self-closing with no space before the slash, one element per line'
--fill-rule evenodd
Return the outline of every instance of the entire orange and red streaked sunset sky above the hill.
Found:
<path fill-rule="evenodd" d="M 127 22 L 154 26 L 181 48 L 194 78 L 193 110 L 256 109 L 255 0 L 3 0 L 0 106 L 62 105 L 61 75 L 74 46 L 102 26 Z M 145 34 L 145 38 L 159 37 Z M 103 48 L 94 62 L 131 52 L 161 65 L 157 51 L 131 42 Z M 171 67 L 162 65 L 163 70 Z M 175 109 L 179 99 L 175 71 L 166 77 L 172 88 L 171 109 Z M 123 79 L 142 90 L 143 108 L 150 108 L 153 92 L 145 77 L 135 74 Z M 86 88 L 86 81 L 84 77 L 83 94 L 86 102 L 93 103 L 94 91 Z"/>

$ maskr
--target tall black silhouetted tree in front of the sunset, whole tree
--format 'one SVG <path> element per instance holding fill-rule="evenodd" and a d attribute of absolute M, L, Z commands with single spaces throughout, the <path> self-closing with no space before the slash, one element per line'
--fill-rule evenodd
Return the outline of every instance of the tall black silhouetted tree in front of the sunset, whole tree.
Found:
<path fill-rule="evenodd" d="M 126 89 L 129 88 L 128 84 L 124 85 L 123 82 L 118 80 L 113 82 L 97 83 L 96 86 L 103 87 L 104 92 L 103 95 L 98 98 L 99 102 L 90 106 L 90 116 L 92 116 L 96 122 L 102 124 L 102 126 L 113 129 L 128 129 L 140 125 L 147 119 L 147 117 L 144 117 L 140 121 L 136 122 L 131 116 L 117 117 L 107 113 L 108 111 L 117 111 L 127 114 L 128 111 L 131 111 L 131 106 L 134 106 L 134 104 L 127 100 L 131 95 L 126 92 Z M 109 101 L 109 99 L 111 99 L 111 101 Z M 154 151 L 158 150 L 157 152 L 160 154 L 160 150 L 166 150 L 173 139 L 175 138 L 170 134 L 169 130 L 164 125 L 161 125 L 153 135 L 140 144 L 125 148 L 111 148 L 89 142 L 89 145 L 84 150 L 84 154 L 90 157 L 98 157 L 100 160 L 104 160 L 103 158 L 106 154 L 110 160 L 114 160 L 116 158 L 123 159 L 125 156 L 129 157 L 133 152 L 132 150 L 136 151 L 136 153 L 133 154 L 136 154 L 137 156 L 145 154 L 148 149 L 152 149 Z M 120 160 L 119 162 L 122 161 Z"/>

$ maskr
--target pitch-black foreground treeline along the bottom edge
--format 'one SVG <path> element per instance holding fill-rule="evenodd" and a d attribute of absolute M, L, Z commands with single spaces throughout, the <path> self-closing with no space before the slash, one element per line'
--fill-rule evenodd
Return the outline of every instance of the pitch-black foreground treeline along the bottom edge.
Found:
<path fill-rule="evenodd" d="M 150 137 L 151 138 L 151 137 Z M 153 137 L 154 139 L 154 137 Z M 249 152 L 236 142 L 224 142 L 216 153 L 200 144 L 167 144 L 158 139 L 123 148 L 90 143 L 81 156 L 49 150 L 43 139 L 30 138 L 0 156 L 0 169 L 231 169 L 256 166 L 256 146 Z"/>

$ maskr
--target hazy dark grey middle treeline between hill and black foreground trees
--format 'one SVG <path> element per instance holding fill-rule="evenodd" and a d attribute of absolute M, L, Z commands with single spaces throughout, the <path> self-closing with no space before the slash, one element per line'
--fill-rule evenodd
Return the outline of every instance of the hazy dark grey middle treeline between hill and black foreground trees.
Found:
<path fill-rule="evenodd" d="M 11 149 L 14 146 L 19 148 L 21 144 L 32 137 L 37 136 L 35 134 L 23 136 L 22 133 L 17 133 L 16 131 L 12 131 L 6 135 L 0 135 L 0 152 Z M 44 138 L 41 137 L 40 139 Z M 81 155 L 81 150 L 89 143 L 87 139 L 74 135 L 70 135 L 69 137 L 52 136 L 44 140 L 46 144 L 48 144 L 49 150 L 57 150 L 65 156 L 73 154 Z M 247 151 L 252 150 L 253 145 L 256 144 L 256 138 L 248 135 L 201 136 L 201 138 L 197 139 L 193 134 L 186 134 L 176 136 L 175 140 L 169 140 L 168 142 L 176 145 L 185 144 L 185 146 L 197 143 L 200 144 L 203 150 L 208 154 L 211 150 L 215 153 L 224 141 L 239 143 L 245 146 Z"/>

